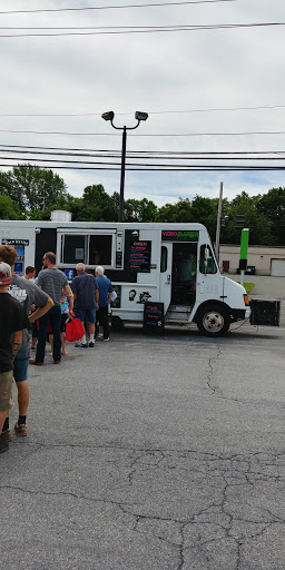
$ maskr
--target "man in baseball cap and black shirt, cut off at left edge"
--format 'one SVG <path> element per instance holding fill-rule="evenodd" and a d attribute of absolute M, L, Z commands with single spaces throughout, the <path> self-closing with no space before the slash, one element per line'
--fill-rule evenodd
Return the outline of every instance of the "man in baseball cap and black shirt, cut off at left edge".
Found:
<path fill-rule="evenodd" d="M 21 303 L 8 293 L 12 281 L 10 265 L 0 262 L 0 433 L 9 410 L 12 407 L 13 358 L 22 341 L 22 331 L 29 324 Z M 0 453 L 9 449 L 0 441 Z"/>

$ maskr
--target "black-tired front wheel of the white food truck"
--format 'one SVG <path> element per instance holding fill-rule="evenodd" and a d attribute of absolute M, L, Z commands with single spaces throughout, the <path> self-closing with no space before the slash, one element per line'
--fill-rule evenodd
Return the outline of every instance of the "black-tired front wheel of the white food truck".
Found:
<path fill-rule="evenodd" d="M 197 315 L 197 327 L 204 336 L 224 336 L 229 328 L 228 311 L 220 305 L 208 305 Z"/>

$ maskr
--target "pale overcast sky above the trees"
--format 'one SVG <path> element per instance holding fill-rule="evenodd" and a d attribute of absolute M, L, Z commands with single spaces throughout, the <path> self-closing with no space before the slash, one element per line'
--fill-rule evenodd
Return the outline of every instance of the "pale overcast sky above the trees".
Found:
<path fill-rule="evenodd" d="M 75 196 L 90 184 L 119 190 L 121 131 L 101 119 L 109 110 L 118 127 L 134 127 L 136 110 L 148 112 L 128 132 L 127 151 L 146 157 L 137 164 L 285 166 L 256 160 L 258 154 L 246 161 L 203 156 L 274 153 L 268 158 L 285 159 L 283 0 L 2 0 L 0 12 L 2 169 L 37 157 L 42 163 L 35 164 L 51 165 Z M 22 148 L 8 154 L 8 145 Z M 27 147 L 53 148 L 55 155 L 20 154 Z M 116 169 L 57 169 L 59 163 L 48 160 L 62 160 L 62 148 L 105 151 L 87 160 L 112 161 Z M 149 158 L 157 151 L 200 155 Z M 75 157 L 66 159 L 76 166 Z M 282 170 L 142 169 L 126 171 L 125 197 L 158 206 L 196 194 L 217 197 L 222 180 L 228 199 L 285 186 Z"/>

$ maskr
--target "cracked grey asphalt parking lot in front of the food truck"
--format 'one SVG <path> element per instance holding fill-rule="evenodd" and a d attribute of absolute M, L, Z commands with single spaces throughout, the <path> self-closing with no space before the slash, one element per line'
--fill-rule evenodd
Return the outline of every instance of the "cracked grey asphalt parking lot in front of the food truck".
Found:
<path fill-rule="evenodd" d="M 1 568 L 284 570 L 285 328 L 235 328 L 127 327 L 30 367 Z"/>

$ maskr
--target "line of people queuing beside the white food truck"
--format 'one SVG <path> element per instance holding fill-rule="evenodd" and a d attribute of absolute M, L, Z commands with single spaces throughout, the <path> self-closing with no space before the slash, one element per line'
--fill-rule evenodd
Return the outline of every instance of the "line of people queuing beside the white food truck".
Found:
<path fill-rule="evenodd" d="M 35 272 L 26 272 L 26 278 L 14 274 L 17 252 L 11 245 L 0 246 L 0 453 L 9 448 L 11 431 L 9 410 L 12 406 L 12 379 L 18 389 L 19 417 L 14 424 L 18 436 L 27 435 L 27 412 L 29 405 L 28 367 L 29 362 L 37 366 L 45 364 L 48 325 L 52 332 L 52 357 L 55 364 L 61 362 L 62 317 L 61 298 L 66 296 L 68 312 L 89 327 L 79 347 L 94 347 L 96 322 L 99 322 L 98 338 L 109 341 L 108 305 L 115 295 L 111 282 L 104 275 L 104 267 L 96 268 L 96 277 L 77 264 L 77 276 L 71 283 L 56 266 L 56 255 L 47 252 L 42 258 L 42 271 L 37 284 Z M 73 312 L 75 304 L 75 312 Z M 31 313 L 30 307 L 35 311 Z M 37 307 L 37 308 L 36 308 Z M 28 327 L 38 322 L 36 358 L 30 361 Z"/>

